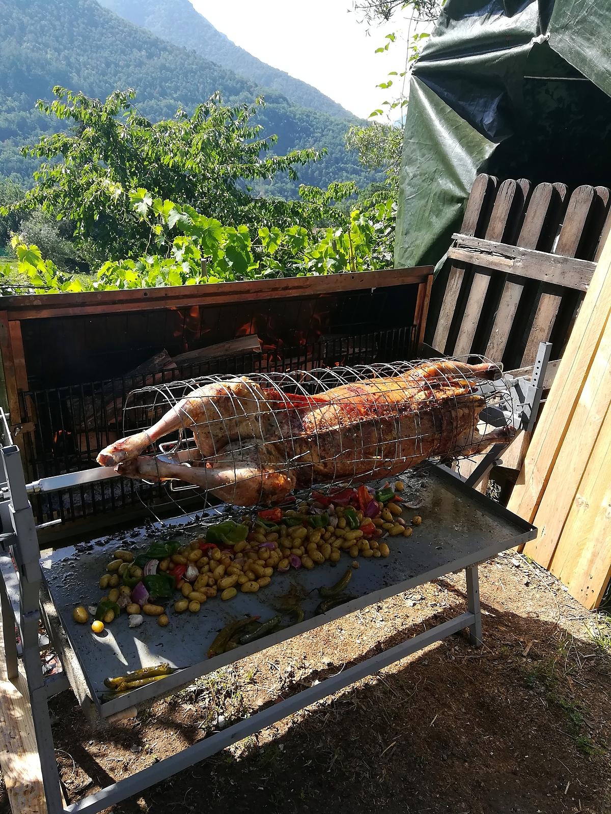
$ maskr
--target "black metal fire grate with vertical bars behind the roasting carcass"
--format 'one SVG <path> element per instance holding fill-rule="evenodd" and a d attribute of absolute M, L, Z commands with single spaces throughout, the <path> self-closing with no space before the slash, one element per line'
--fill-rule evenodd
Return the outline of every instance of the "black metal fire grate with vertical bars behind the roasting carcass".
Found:
<path fill-rule="evenodd" d="M 152 383 L 166 383 L 209 374 L 249 374 L 310 370 L 334 365 L 360 365 L 409 360 L 416 352 L 416 327 L 321 339 L 296 348 L 217 358 L 156 374 L 108 379 L 86 384 L 22 392 L 24 457 L 29 479 L 61 475 L 98 466 L 100 449 L 135 429 L 138 410 L 124 414 L 130 392 Z M 150 415 L 147 418 L 152 418 Z M 165 503 L 192 497 L 160 484 L 111 479 L 32 496 L 37 523 L 60 519 L 62 523 L 129 507 Z"/>

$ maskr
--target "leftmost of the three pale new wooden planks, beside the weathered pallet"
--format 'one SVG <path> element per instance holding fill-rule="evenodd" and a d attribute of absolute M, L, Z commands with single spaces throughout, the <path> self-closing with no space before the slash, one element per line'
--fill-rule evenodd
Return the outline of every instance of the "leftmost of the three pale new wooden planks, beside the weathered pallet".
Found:
<path fill-rule="evenodd" d="M 587 381 L 592 358 L 611 313 L 610 272 L 611 238 L 607 240 L 596 265 L 590 288 L 583 300 L 508 504 L 510 510 L 530 523 L 556 463 L 568 423 Z"/>

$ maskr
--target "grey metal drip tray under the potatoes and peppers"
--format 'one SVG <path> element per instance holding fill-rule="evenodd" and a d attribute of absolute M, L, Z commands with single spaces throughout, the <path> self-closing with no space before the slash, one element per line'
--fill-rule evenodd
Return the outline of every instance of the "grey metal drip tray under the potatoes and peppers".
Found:
<path fill-rule="evenodd" d="M 312 571 L 301 568 L 299 571 L 291 569 L 284 575 L 277 574 L 266 589 L 254 594 L 238 593 L 230 602 L 222 602 L 214 597 L 196 615 L 188 612 L 176 615 L 170 610 L 170 621 L 166 628 L 160 628 L 152 617 L 146 618 L 138 628 L 129 628 L 126 620 L 120 618 L 98 637 L 91 632 L 89 624 L 76 624 L 73 621 L 73 607 L 79 604 L 95 605 L 102 594 L 98 582 L 110 559 L 109 553 L 128 544 L 121 544 L 116 536 L 106 537 L 92 540 L 88 545 L 59 549 L 42 558 L 43 580 L 57 612 L 57 616 L 52 616 L 62 628 L 51 630 L 51 634 L 64 667 L 68 661 L 77 665 L 76 669 L 67 671 L 77 698 L 82 698 L 85 691 L 100 715 L 112 715 L 135 703 L 168 694 L 172 689 L 191 683 L 218 667 L 243 659 L 279 641 L 286 641 L 353 610 L 473 565 L 535 536 L 534 527 L 529 523 L 466 487 L 444 467 L 411 471 L 403 476 L 403 480 L 406 496 L 422 502 L 417 512 L 408 510 L 406 517 L 411 519 L 413 514 L 421 514 L 422 525 L 415 528 L 411 537 L 389 538 L 387 542 L 391 553 L 388 558 L 359 558 L 360 567 L 354 570 L 349 584 L 349 592 L 358 598 L 324 615 L 314 615 L 314 608 L 319 603 L 314 589 L 333 584 L 339 579 L 351 562 L 347 554 L 335 567 L 327 563 Z M 210 510 L 212 513 L 215 510 Z M 191 522 L 183 529 L 184 525 L 184 516 L 165 521 L 163 528 L 167 532 L 164 533 L 176 539 L 181 533 L 191 538 L 196 536 L 196 525 Z M 156 524 L 130 527 L 122 537 L 129 536 L 131 545 L 144 549 L 152 536 L 159 539 L 159 533 L 159 524 Z M 303 622 L 230 653 L 213 659 L 206 657 L 217 632 L 231 620 L 243 615 L 260 615 L 262 619 L 274 615 L 275 599 L 286 593 L 291 583 L 312 592 L 301 605 L 306 612 Z M 53 627 L 50 616 L 47 613 L 45 618 L 47 624 Z M 163 681 L 119 698 L 107 702 L 99 700 L 99 695 L 105 691 L 104 678 L 121 676 L 138 667 L 163 662 L 181 669 Z"/>

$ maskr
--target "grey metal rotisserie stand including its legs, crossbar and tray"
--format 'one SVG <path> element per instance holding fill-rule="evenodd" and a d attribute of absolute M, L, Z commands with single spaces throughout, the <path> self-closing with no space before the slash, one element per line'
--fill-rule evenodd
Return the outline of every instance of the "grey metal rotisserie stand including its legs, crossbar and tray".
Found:
<path fill-rule="evenodd" d="M 534 406 L 540 399 L 543 387 L 545 357 L 546 355 L 548 357 L 548 353 L 549 348 L 540 349 L 539 365 L 535 369 L 531 383 L 521 380 L 511 382 L 512 389 L 521 396 L 513 417 L 516 426 L 527 428 L 533 421 Z M 189 635 L 186 635 L 185 631 L 179 628 L 179 618 L 178 621 L 173 618 L 175 629 L 155 628 L 150 641 L 144 641 L 144 647 L 137 634 L 140 628 L 135 628 L 134 631 L 116 626 L 116 633 L 113 632 L 110 642 L 112 647 L 103 648 L 102 652 L 106 655 L 102 655 L 92 650 L 92 646 L 95 648 L 95 640 L 87 638 L 84 628 L 81 626 L 77 629 L 77 625 L 73 623 L 72 608 L 75 604 L 83 602 L 87 592 L 92 590 L 91 586 L 97 583 L 100 562 L 106 562 L 108 559 L 104 545 L 113 544 L 107 540 L 106 544 L 100 545 L 101 541 L 98 541 L 98 545 L 89 544 L 81 549 L 64 549 L 41 560 L 37 529 L 29 501 L 29 494 L 33 492 L 62 488 L 62 479 L 74 480 L 78 475 L 91 477 L 92 473 L 73 473 L 51 479 L 51 483 L 26 484 L 20 450 L 12 443 L 4 414 L 0 422 L 0 434 L 2 435 L 0 519 L 4 530 L 0 538 L 2 542 L 0 599 L 4 658 L 10 678 L 17 675 L 20 662 L 25 673 L 50 814 L 62 812 L 95 814 L 464 628 L 468 628 L 473 644 L 481 644 L 478 562 L 504 549 L 531 540 L 536 535 L 536 529 L 530 523 L 516 517 L 502 505 L 472 488 L 472 485 L 477 484 L 477 478 L 483 476 L 486 468 L 492 466 L 498 459 L 499 449 L 493 447 L 468 482 L 445 466 L 430 466 L 429 470 L 414 470 L 407 475 L 407 488 L 412 488 L 424 501 L 420 511 L 426 518 L 425 523 L 419 527 L 419 535 L 410 538 L 409 544 L 406 545 L 401 538 L 402 547 L 401 544 L 393 546 L 392 559 L 363 561 L 353 580 L 354 589 L 362 593 L 351 602 L 337 606 L 326 614 L 311 616 L 300 624 L 270 634 L 261 640 L 240 646 L 229 654 L 204 659 L 204 650 L 207 649 L 214 633 L 226 624 L 227 614 L 230 612 L 226 603 L 209 602 L 197 628 L 200 631 L 197 645 L 201 660 L 196 657 L 196 663 L 190 663 L 194 652 L 193 623 L 191 622 Z M 103 475 L 103 470 L 99 472 Z M 206 510 L 212 514 L 219 511 L 222 511 L 221 507 Z M 199 515 L 193 522 L 201 523 L 201 519 Z M 169 521 L 169 526 L 184 521 L 185 517 L 182 516 Z M 132 531 L 138 532 L 138 539 L 142 541 L 152 533 L 150 526 L 133 528 Z M 392 539 L 390 542 L 393 545 Z M 187 685 L 218 667 L 234 663 L 259 650 L 265 650 L 279 642 L 318 628 L 327 621 L 338 619 L 354 610 L 363 609 L 387 597 L 463 569 L 466 573 L 467 605 L 464 613 L 361 663 L 343 669 L 290 698 L 262 708 L 252 717 L 205 737 L 151 768 L 106 786 L 77 803 L 64 806 L 55 760 L 48 699 L 67 689 L 68 685 L 73 689 L 85 711 L 107 717 L 134 704 L 170 694 L 179 686 Z M 311 589 L 320 581 L 318 575 L 314 577 L 314 573 L 309 571 L 306 573 L 300 571 L 297 578 L 293 576 L 293 579 L 299 580 L 300 583 L 302 581 L 306 589 Z M 253 613 L 253 610 L 260 610 L 261 605 L 265 605 L 264 596 L 264 592 L 239 595 L 236 597 L 237 604 L 232 606 L 231 610 L 234 614 Z M 38 641 L 38 625 L 41 618 L 64 667 L 64 674 L 59 678 L 46 679 L 43 676 Z M 168 632 L 164 635 L 165 631 Z M 19 645 L 15 633 L 19 637 Z M 140 637 L 145 638 L 146 633 L 141 633 Z M 152 644 L 154 650 L 149 649 L 147 644 Z M 138 663 L 134 663 L 134 652 L 138 654 Z M 182 669 L 167 676 L 164 681 L 135 689 L 108 702 L 100 700 L 103 676 L 117 672 L 118 665 L 133 669 L 145 663 L 163 661 L 170 661 Z"/>

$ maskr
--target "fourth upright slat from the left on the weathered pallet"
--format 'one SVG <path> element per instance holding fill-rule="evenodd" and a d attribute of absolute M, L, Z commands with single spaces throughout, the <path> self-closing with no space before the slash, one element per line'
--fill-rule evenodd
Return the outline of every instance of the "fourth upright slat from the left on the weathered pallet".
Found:
<path fill-rule="evenodd" d="M 583 231 L 585 230 L 587 218 L 591 211 L 592 203 L 595 199 L 595 192 L 591 186 L 578 186 L 574 190 L 569 200 L 565 220 L 563 221 L 558 243 L 554 248 L 554 253 L 566 257 L 574 257 L 578 253 L 579 245 L 582 243 Z M 540 342 L 547 342 L 552 335 L 552 328 L 556 321 L 556 314 L 560 308 L 562 298 L 559 295 L 545 293 L 541 294 L 538 301 L 537 310 L 534 315 L 533 325 L 522 356 L 522 365 L 531 365 L 537 356 Z"/>

